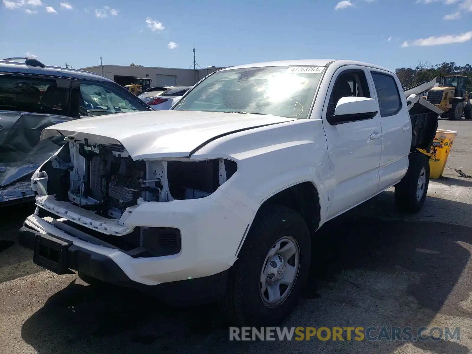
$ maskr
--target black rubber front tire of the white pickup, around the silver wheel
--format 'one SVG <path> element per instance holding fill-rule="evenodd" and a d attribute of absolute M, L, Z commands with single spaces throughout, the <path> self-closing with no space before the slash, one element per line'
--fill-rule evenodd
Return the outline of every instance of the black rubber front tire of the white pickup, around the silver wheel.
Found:
<path fill-rule="evenodd" d="M 285 300 L 277 307 L 268 307 L 260 291 L 261 271 L 272 246 L 285 236 L 291 236 L 298 244 L 298 274 Z M 278 205 L 264 208 L 256 215 L 238 259 L 229 271 L 226 294 L 220 302 L 222 312 L 236 326 L 280 324 L 302 295 L 310 261 L 311 236 L 302 216 Z"/>

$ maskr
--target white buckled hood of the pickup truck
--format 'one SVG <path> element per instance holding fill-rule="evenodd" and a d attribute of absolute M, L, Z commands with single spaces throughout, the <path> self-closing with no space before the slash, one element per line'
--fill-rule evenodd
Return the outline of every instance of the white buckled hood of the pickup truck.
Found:
<path fill-rule="evenodd" d="M 82 118 L 47 127 L 41 139 L 65 135 L 89 143 L 122 144 L 133 160 L 190 157 L 221 136 L 297 120 L 255 114 L 161 110 Z"/>

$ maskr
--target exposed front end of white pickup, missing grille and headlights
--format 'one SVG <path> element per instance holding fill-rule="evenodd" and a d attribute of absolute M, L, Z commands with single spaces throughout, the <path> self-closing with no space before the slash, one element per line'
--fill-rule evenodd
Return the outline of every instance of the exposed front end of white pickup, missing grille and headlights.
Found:
<path fill-rule="evenodd" d="M 226 159 L 133 160 L 123 145 L 110 139 L 104 142 L 105 137 L 94 141 L 93 137 L 66 136 L 65 140 L 31 179 L 37 206 L 61 218 L 64 225 L 133 258 L 181 250 L 177 228 L 126 226 L 126 219 L 138 206 L 205 198 L 237 169 L 235 161 Z M 54 223 L 57 227 L 57 220 Z"/>

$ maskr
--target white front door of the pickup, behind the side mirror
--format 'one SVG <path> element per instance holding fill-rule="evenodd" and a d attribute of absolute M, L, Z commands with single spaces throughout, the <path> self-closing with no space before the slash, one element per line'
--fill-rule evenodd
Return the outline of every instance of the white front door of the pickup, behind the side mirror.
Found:
<path fill-rule="evenodd" d="M 333 218 L 369 199 L 379 187 L 379 161 L 382 130 L 379 115 L 359 116 L 354 121 L 332 125 L 333 115 L 341 97 L 375 98 L 374 88 L 363 67 L 345 66 L 337 70 L 329 85 L 323 110 L 323 128 L 329 151 L 328 217 Z"/>

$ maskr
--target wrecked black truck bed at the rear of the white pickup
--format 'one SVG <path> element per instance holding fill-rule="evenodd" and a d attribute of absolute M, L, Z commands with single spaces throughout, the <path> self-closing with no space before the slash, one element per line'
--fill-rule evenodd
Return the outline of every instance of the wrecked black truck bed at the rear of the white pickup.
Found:
<path fill-rule="evenodd" d="M 415 94 L 406 99 L 406 105 L 412 122 L 412 150 L 425 149 L 429 152 L 442 110 Z"/>

